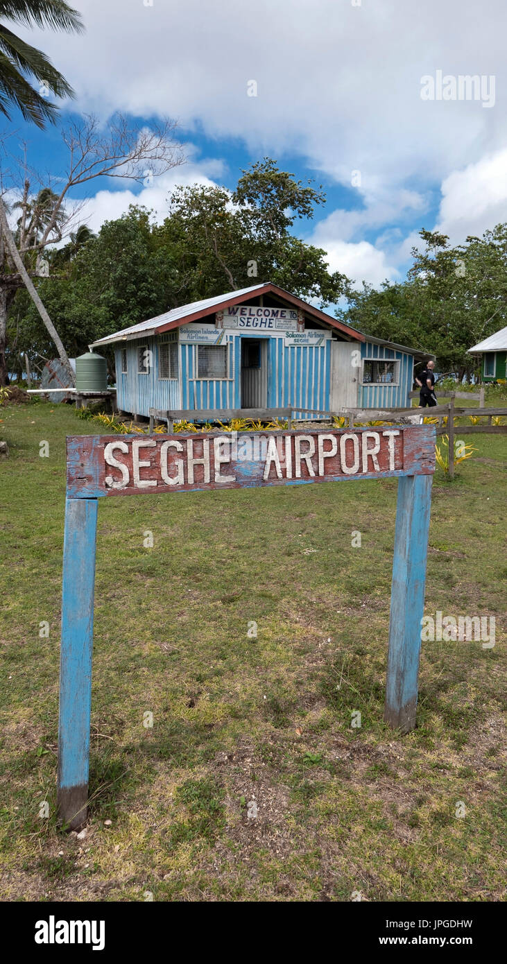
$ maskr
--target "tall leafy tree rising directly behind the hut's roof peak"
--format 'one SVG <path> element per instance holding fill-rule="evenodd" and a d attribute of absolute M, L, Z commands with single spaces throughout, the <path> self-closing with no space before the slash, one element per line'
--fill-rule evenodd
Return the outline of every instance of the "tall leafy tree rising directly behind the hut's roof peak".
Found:
<path fill-rule="evenodd" d="M 158 230 L 160 243 L 177 251 L 176 304 L 268 280 L 322 305 L 337 301 L 347 279 L 329 272 L 325 251 L 291 232 L 297 218 L 310 219 L 324 201 L 271 158 L 242 172 L 232 194 L 223 187 L 176 188 Z"/>

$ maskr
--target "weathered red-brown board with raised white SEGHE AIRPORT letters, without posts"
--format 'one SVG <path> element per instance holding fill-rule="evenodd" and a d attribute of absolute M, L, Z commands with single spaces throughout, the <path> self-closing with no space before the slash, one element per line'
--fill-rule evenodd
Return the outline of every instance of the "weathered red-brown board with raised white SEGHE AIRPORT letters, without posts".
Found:
<path fill-rule="evenodd" d="M 67 497 L 304 485 L 435 471 L 431 425 L 67 438 Z"/>

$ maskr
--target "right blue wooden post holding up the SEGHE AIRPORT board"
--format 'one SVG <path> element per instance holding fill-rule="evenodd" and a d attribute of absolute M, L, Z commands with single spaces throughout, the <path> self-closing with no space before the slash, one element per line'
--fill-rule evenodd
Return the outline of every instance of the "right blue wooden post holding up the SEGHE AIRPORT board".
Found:
<path fill-rule="evenodd" d="M 384 718 L 414 730 L 433 475 L 398 479 Z"/>

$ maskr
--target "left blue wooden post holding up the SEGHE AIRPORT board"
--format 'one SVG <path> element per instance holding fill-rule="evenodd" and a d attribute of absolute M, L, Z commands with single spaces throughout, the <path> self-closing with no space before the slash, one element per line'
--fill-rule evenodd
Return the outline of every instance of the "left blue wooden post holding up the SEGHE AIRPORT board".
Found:
<path fill-rule="evenodd" d="M 86 823 L 92 705 L 96 498 L 67 498 L 62 589 L 58 813 Z"/>

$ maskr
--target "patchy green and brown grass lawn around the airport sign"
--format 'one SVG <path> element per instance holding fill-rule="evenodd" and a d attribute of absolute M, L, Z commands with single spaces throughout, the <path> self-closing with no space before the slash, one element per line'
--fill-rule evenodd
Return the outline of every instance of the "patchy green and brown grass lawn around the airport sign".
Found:
<path fill-rule="evenodd" d="M 80 842 L 55 814 L 65 437 L 95 426 L 0 417 L 1 899 L 502 899 L 504 436 L 435 476 L 425 606 L 496 642 L 423 643 L 408 736 L 383 722 L 396 480 L 101 499 Z"/>

